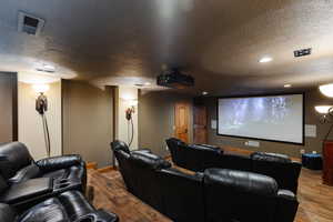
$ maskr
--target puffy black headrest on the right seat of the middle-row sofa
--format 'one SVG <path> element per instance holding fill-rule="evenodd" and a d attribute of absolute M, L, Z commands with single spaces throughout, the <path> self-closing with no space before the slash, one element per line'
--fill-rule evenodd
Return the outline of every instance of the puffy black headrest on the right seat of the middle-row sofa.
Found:
<path fill-rule="evenodd" d="M 253 193 L 265 196 L 278 194 L 278 184 L 266 175 L 226 169 L 208 169 L 204 171 L 205 184 L 219 184 L 236 192 Z"/>

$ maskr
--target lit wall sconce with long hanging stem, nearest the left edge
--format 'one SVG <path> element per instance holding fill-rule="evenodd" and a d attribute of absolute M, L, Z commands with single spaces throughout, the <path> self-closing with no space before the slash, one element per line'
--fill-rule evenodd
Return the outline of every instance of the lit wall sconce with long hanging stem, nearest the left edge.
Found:
<path fill-rule="evenodd" d="M 48 98 L 44 94 L 47 91 L 49 91 L 50 87 L 48 84 L 33 84 L 32 88 L 37 93 L 39 93 L 38 98 L 36 99 L 36 111 L 42 118 L 47 154 L 48 157 L 50 157 L 51 154 L 50 133 L 49 133 L 48 120 L 46 117 L 46 112 L 48 111 Z"/>

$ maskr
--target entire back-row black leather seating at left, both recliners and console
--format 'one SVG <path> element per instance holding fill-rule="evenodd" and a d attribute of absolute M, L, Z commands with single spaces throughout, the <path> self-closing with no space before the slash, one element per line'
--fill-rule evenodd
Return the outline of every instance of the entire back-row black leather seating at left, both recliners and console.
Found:
<path fill-rule="evenodd" d="M 95 210 L 82 192 L 85 163 L 80 155 L 34 161 L 19 142 L 0 145 L 0 221 L 117 222 L 118 216 Z"/>

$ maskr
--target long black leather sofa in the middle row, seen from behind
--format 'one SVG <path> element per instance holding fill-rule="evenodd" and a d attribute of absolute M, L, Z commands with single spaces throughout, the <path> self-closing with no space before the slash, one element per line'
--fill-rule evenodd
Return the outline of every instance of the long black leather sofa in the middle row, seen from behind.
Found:
<path fill-rule="evenodd" d="M 188 174 L 152 153 L 125 152 L 119 141 L 111 145 L 129 191 L 175 222 L 292 222 L 295 216 L 296 196 L 279 190 L 272 178 L 223 169 Z M 248 209 L 252 215 L 242 216 Z"/>

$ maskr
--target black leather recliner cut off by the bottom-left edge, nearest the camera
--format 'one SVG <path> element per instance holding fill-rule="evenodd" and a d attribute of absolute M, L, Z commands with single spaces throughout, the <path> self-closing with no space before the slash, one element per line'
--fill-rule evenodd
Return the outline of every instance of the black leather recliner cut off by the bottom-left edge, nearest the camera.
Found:
<path fill-rule="evenodd" d="M 118 222 L 118 216 L 95 210 L 78 191 L 48 199 L 31 209 L 18 212 L 0 203 L 1 222 Z"/>

